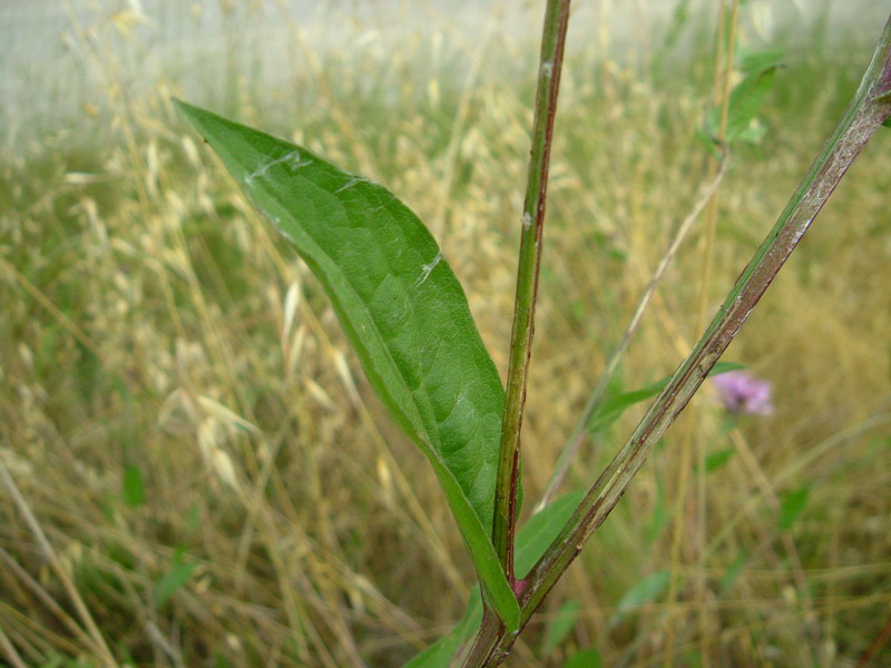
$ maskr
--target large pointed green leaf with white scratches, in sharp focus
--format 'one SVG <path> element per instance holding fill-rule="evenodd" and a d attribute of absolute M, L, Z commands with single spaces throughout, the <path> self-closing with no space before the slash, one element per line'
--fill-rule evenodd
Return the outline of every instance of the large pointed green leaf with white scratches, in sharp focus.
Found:
<path fill-rule="evenodd" d="M 487 598 L 516 629 L 490 539 L 505 392 L 435 240 L 382 186 L 177 105 L 323 285 L 372 387 L 433 465 Z"/>

